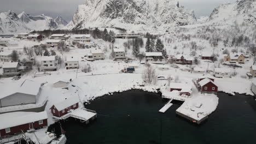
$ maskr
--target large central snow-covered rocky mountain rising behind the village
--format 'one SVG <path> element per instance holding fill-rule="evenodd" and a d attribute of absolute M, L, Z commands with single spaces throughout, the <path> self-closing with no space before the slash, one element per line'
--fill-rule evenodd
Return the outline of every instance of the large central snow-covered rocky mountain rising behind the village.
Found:
<path fill-rule="evenodd" d="M 119 27 L 129 30 L 157 30 L 196 22 L 193 10 L 176 0 L 85 0 L 65 27 Z"/>

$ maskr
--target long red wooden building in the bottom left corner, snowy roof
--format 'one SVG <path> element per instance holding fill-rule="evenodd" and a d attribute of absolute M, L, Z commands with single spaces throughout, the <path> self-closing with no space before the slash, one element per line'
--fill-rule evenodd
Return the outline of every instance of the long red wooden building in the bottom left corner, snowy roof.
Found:
<path fill-rule="evenodd" d="M 47 127 L 47 119 L 48 116 L 46 111 L 22 116 L 17 115 L 15 117 L 6 116 L 5 118 L 0 119 L 0 137 L 18 134 L 21 133 L 21 131 L 26 132 L 30 129 Z"/>

